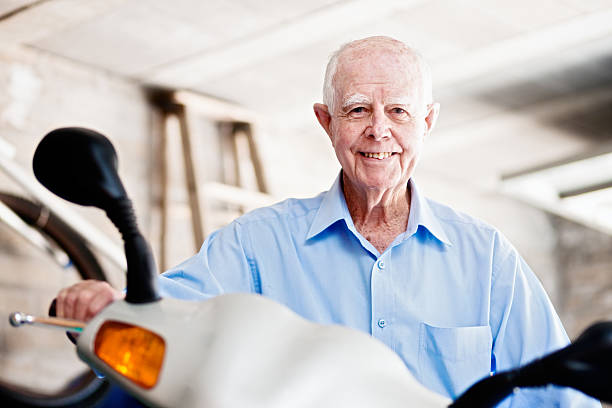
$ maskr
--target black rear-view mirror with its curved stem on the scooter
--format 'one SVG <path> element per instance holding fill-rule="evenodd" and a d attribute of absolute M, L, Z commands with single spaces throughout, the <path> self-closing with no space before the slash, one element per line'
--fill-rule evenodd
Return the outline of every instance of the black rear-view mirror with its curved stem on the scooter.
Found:
<path fill-rule="evenodd" d="M 111 142 L 90 129 L 55 129 L 36 148 L 32 165 L 38 181 L 53 193 L 104 210 L 119 229 L 129 272 L 125 300 L 158 300 L 155 262 L 117 174 L 117 154 Z"/>

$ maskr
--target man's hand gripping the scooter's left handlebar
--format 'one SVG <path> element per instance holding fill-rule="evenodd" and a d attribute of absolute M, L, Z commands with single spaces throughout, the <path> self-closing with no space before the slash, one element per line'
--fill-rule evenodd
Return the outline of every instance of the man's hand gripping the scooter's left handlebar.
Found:
<path fill-rule="evenodd" d="M 108 304 L 123 297 L 123 293 L 108 282 L 84 280 L 58 293 L 57 316 L 87 322 Z"/>

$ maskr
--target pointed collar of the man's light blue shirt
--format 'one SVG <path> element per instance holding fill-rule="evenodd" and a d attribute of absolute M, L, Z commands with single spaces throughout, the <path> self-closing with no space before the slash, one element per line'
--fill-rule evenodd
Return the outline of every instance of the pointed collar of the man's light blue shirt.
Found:
<path fill-rule="evenodd" d="M 408 184 L 411 193 L 410 217 L 408 219 L 408 227 L 404 233 L 404 239 L 416 234 L 419 226 L 423 226 L 439 241 L 452 245 L 440 222 L 433 214 L 429 203 L 420 194 L 414 180 L 410 179 Z M 323 201 L 312 224 L 310 224 L 306 239 L 308 240 L 320 234 L 339 220 L 344 220 L 347 227 L 352 229 L 353 219 L 348 211 L 344 192 L 342 191 L 342 172 L 336 177 L 329 191 L 324 193 Z"/>

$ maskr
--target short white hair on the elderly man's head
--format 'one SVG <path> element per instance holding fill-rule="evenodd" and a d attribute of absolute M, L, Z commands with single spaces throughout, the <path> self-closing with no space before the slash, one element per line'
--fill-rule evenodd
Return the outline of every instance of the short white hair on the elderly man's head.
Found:
<path fill-rule="evenodd" d="M 425 59 L 417 50 L 391 37 L 367 37 L 361 40 L 355 40 L 343 44 L 329 58 L 327 68 L 325 69 L 325 79 L 323 81 L 323 103 L 327 105 L 330 110 L 330 113 L 337 108 L 334 80 L 336 77 L 336 72 L 338 71 L 338 62 L 340 60 L 340 57 L 344 52 L 348 50 L 366 48 L 372 44 L 378 44 L 388 49 L 389 51 L 397 52 L 399 54 L 410 57 L 413 60 L 414 66 L 417 68 L 418 72 L 421 75 L 425 103 L 430 104 L 433 102 L 433 95 L 431 90 L 431 70 Z"/>

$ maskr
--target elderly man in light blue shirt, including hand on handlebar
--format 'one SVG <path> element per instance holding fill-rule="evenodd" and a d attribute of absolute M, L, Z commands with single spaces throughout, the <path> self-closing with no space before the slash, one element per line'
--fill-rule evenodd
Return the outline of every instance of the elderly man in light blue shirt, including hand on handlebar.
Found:
<path fill-rule="evenodd" d="M 262 294 L 307 319 L 370 333 L 450 397 L 567 344 L 506 239 L 424 198 L 411 179 L 439 111 L 415 51 L 387 37 L 343 46 L 327 67 L 324 102 L 314 112 L 342 166 L 331 189 L 216 231 L 164 274 L 165 295 Z M 88 319 L 119 296 L 83 282 L 60 292 L 58 313 Z M 562 389 L 521 391 L 505 404 L 599 406 Z"/>

